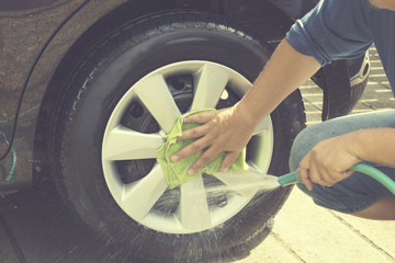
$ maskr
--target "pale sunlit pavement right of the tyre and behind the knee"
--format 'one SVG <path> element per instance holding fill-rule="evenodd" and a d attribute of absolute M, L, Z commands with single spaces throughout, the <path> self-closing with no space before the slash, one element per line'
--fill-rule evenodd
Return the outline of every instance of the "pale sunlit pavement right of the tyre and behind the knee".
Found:
<path fill-rule="evenodd" d="M 307 82 L 302 93 L 307 125 L 320 122 L 321 91 Z M 352 113 L 394 108 L 394 96 L 379 55 L 371 49 L 366 90 Z M 395 222 L 372 221 L 313 204 L 297 187 L 274 219 L 270 236 L 238 263 L 388 263 L 395 262 Z"/>

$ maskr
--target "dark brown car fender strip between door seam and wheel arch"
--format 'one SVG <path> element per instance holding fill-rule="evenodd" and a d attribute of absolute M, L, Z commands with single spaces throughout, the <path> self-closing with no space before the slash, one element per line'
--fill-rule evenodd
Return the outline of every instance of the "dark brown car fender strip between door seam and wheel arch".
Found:
<path fill-rule="evenodd" d="M 2 170 L 2 178 L 0 178 L 1 191 L 20 188 L 30 185 L 32 182 L 32 167 L 34 168 L 34 164 L 37 163 L 33 157 L 34 130 L 41 110 L 40 105 L 56 66 L 79 36 L 105 14 L 125 3 L 126 0 L 77 0 L 74 1 L 74 5 L 77 4 L 75 11 L 70 11 L 70 3 L 68 2 L 63 1 L 60 4 L 53 7 L 58 12 L 64 10 L 66 20 L 57 20 L 57 30 L 54 34 L 48 36 L 47 39 L 42 39 L 46 44 L 27 75 L 25 88 L 21 92 L 16 117 L 9 118 L 8 125 L 14 128 L 8 134 L 0 134 L 1 142 L 4 140 L 5 147 L 8 147 L 0 161 L 0 169 Z M 54 12 L 54 10 L 44 10 L 43 15 L 50 15 L 50 12 Z M 30 15 L 34 15 L 34 13 Z M 29 117 L 24 118 L 27 115 Z"/>

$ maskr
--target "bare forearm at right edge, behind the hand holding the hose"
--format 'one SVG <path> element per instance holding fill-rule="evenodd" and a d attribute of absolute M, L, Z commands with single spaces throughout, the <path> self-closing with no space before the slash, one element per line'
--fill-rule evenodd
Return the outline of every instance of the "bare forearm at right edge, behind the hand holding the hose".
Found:
<path fill-rule="evenodd" d="M 359 159 L 395 168 L 395 128 L 360 129 L 350 137 Z"/>

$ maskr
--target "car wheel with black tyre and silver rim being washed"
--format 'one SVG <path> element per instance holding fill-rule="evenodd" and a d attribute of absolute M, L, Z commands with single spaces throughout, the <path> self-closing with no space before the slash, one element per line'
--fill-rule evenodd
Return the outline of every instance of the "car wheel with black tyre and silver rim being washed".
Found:
<path fill-rule="evenodd" d="M 198 262 L 267 235 L 290 188 L 240 191 L 240 179 L 204 174 L 169 190 L 156 150 L 181 114 L 239 101 L 270 55 L 237 26 L 194 11 L 151 14 L 98 39 L 68 70 L 53 110 L 48 155 L 66 204 L 144 262 Z M 248 163 L 286 172 L 304 123 L 296 91 L 257 128 Z"/>

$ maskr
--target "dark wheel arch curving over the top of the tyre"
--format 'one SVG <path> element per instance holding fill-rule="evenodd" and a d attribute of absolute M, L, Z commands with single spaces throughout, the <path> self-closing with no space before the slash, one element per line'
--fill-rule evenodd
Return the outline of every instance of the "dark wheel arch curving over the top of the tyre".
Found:
<path fill-rule="evenodd" d="M 303 2 L 303 0 L 300 1 Z M 103 37 L 106 32 L 110 31 L 114 25 L 122 24 L 126 20 L 129 20 L 131 15 L 138 18 L 148 15 L 153 12 L 170 9 L 201 10 L 223 15 L 228 20 L 242 25 L 246 30 L 248 30 L 248 33 L 251 33 L 260 39 L 267 42 L 276 42 L 282 38 L 285 35 L 289 26 L 291 26 L 293 23 L 292 18 L 286 14 L 285 10 L 279 4 L 275 5 L 271 3 L 270 0 L 247 1 L 247 5 L 241 4 L 244 1 L 237 1 L 238 3 L 234 4 L 235 2 L 232 0 L 169 0 L 166 1 L 166 3 L 163 3 L 165 1 L 160 0 L 116 0 L 111 2 L 112 5 L 108 7 L 106 10 L 103 8 L 98 8 L 97 1 L 90 2 L 83 7 L 78 13 L 70 18 L 67 23 L 65 23 L 63 28 L 57 32 L 57 34 L 47 45 L 46 50 L 44 50 L 40 57 L 38 62 L 33 70 L 31 81 L 29 81 L 26 85 L 26 92 L 37 92 L 38 90 L 37 93 L 40 93 L 42 96 L 41 110 L 37 112 L 35 135 L 41 135 L 43 132 L 45 132 L 52 104 L 55 103 L 53 98 L 59 91 L 59 89 L 61 89 L 61 82 L 65 81 L 64 72 L 71 67 L 74 58 L 83 53 L 83 49 L 89 46 L 89 43 Z M 266 28 L 255 26 L 253 24 L 258 24 L 257 22 L 251 23 L 250 12 L 257 10 L 257 5 L 261 7 L 262 11 L 258 13 L 255 12 L 253 15 L 256 19 L 260 19 L 262 24 L 266 24 Z M 236 12 L 240 9 L 245 10 L 242 15 L 236 15 Z M 84 18 L 84 14 L 92 11 L 95 12 L 95 14 L 90 15 L 92 19 L 83 24 L 83 30 L 79 30 L 77 34 L 72 36 L 68 36 L 67 32 L 79 24 L 79 21 L 81 18 Z M 279 19 L 275 19 L 272 22 L 270 22 L 269 19 L 261 19 L 268 13 L 271 13 L 270 18 Z M 268 30 L 269 27 L 274 27 L 276 30 Z M 67 42 L 67 44 L 61 49 L 61 52 L 59 52 L 59 48 L 56 48 L 56 46 L 64 42 Z M 53 64 L 56 65 L 56 67 L 48 69 L 46 64 L 48 58 L 53 60 Z M 46 72 L 42 73 L 43 70 L 46 70 Z M 44 79 L 42 76 L 46 78 Z M 40 81 L 34 81 L 36 79 L 40 79 Z M 37 82 L 41 83 L 40 87 L 37 87 Z M 25 98 L 22 98 L 21 107 L 27 107 L 25 104 L 30 103 L 26 102 Z M 35 136 L 34 140 L 40 140 L 40 137 Z M 36 145 L 34 146 L 36 147 Z M 38 159 L 41 158 L 38 157 Z"/>

